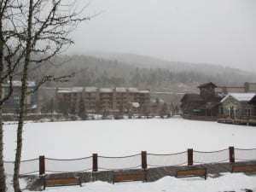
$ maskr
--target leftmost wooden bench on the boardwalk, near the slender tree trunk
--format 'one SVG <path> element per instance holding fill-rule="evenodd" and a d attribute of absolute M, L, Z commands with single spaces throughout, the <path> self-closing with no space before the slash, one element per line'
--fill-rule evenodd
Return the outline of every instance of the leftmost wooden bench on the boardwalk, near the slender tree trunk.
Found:
<path fill-rule="evenodd" d="M 44 177 L 44 189 L 45 187 L 56 187 L 56 186 L 65 186 L 65 185 L 76 185 L 76 184 L 82 187 L 80 177 L 56 177 L 56 178 Z"/>

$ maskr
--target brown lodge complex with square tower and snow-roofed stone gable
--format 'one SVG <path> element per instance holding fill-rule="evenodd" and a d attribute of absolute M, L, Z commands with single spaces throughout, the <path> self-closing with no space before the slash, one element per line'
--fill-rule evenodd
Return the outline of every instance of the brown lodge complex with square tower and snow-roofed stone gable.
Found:
<path fill-rule="evenodd" d="M 200 94 L 185 94 L 181 99 L 184 116 L 225 116 L 232 119 L 256 116 L 256 84 L 243 87 L 218 87 L 212 82 L 198 86 Z"/>

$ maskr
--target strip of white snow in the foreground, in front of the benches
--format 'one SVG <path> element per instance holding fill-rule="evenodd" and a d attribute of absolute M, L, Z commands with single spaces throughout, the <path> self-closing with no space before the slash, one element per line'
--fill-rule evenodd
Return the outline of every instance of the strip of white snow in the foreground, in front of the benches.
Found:
<path fill-rule="evenodd" d="M 26 182 L 21 179 L 21 188 L 26 187 Z M 107 183 L 96 181 L 94 183 L 83 183 L 82 187 L 62 186 L 46 188 L 48 192 L 242 192 L 245 189 L 256 191 L 256 177 L 246 176 L 243 173 L 227 173 L 222 177 L 204 180 L 199 177 L 176 178 L 163 177 L 152 183 Z M 28 192 L 28 190 L 23 190 Z M 8 192 L 13 192 L 9 185 Z"/>

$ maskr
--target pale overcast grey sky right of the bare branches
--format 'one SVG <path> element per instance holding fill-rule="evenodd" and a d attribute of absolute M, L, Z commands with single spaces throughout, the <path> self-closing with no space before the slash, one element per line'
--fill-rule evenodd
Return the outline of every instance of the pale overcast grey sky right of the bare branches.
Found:
<path fill-rule="evenodd" d="M 256 72 L 256 0 L 91 0 L 87 10 L 103 12 L 73 33 L 71 52 L 127 52 Z"/>

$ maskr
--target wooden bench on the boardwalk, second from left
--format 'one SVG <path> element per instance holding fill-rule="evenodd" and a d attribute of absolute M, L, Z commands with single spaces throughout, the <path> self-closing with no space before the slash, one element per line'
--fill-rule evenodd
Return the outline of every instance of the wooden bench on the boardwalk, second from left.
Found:
<path fill-rule="evenodd" d="M 143 181 L 147 182 L 147 173 L 125 173 L 125 174 L 114 174 L 113 183 L 118 182 L 130 182 L 130 181 Z"/>

